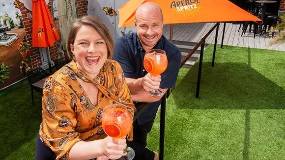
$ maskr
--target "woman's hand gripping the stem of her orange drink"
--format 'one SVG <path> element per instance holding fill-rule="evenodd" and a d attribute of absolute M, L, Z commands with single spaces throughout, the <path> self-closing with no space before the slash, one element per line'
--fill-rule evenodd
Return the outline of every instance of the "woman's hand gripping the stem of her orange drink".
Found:
<path fill-rule="evenodd" d="M 105 139 L 103 139 L 103 153 L 111 160 L 119 159 L 122 157 L 123 151 L 126 147 L 127 144 L 125 138 L 112 138 L 110 136 L 107 136 Z"/>

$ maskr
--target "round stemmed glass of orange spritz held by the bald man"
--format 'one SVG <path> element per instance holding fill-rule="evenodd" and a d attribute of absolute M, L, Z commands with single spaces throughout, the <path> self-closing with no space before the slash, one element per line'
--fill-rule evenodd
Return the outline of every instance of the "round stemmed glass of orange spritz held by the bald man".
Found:
<path fill-rule="evenodd" d="M 148 50 L 143 58 L 144 69 L 153 76 L 162 74 L 167 68 L 167 56 L 163 50 Z M 164 94 L 161 88 L 149 91 L 151 96 L 160 96 Z"/>

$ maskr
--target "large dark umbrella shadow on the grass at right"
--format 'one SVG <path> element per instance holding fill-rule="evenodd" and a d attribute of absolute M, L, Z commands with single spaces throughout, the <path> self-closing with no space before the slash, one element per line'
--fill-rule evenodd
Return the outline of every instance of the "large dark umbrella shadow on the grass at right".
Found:
<path fill-rule="evenodd" d="M 179 108 L 285 109 L 285 90 L 246 63 L 204 62 L 200 96 L 195 98 L 198 64 L 172 92 Z"/>

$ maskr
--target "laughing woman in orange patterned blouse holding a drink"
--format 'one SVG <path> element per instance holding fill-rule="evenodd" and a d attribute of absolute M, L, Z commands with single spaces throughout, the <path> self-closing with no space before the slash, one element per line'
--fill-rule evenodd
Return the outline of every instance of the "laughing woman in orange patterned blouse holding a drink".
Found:
<path fill-rule="evenodd" d="M 36 160 L 43 159 L 42 143 L 56 160 L 118 159 L 126 140 L 104 133 L 102 110 L 122 103 L 133 116 L 135 107 L 120 65 L 110 60 L 114 50 L 110 31 L 99 19 L 85 16 L 70 27 L 67 44 L 73 60 L 44 84 Z M 128 139 L 132 140 L 132 132 Z"/>

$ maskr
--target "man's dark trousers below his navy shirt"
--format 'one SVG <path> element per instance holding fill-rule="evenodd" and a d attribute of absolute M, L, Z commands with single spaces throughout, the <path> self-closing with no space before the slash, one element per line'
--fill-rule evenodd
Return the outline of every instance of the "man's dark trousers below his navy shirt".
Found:
<path fill-rule="evenodd" d="M 135 158 L 133 160 L 154 159 L 154 153 L 151 150 L 145 148 L 147 133 L 150 132 L 153 122 L 154 120 L 143 125 L 137 125 L 137 122 L 133 124 L 133 129 L 134 129 L 133 141 L 127 142 L 127 145 L 133 148 L 135 151 Z"/>

